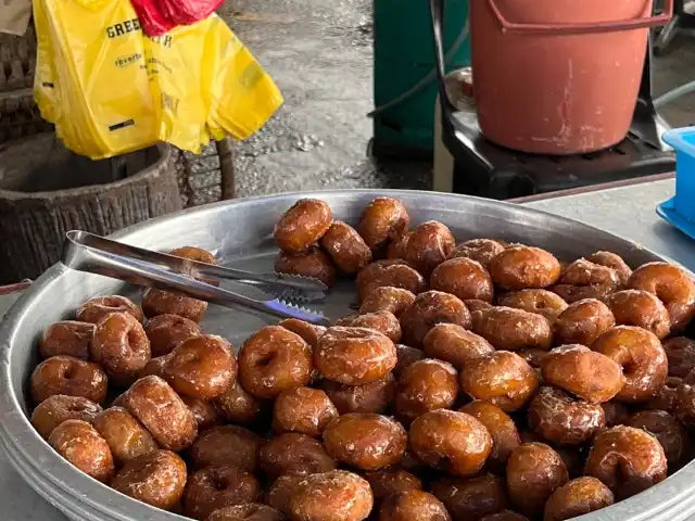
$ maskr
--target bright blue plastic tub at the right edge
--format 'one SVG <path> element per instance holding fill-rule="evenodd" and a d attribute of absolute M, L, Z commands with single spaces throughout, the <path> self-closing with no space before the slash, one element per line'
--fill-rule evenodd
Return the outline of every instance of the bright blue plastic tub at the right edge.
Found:
<path fill-rule="evenodd" d="M 675 150 L 675 196 L 657 214 L 695 239 L 695 127 L 674 128 L 661 139 Z"/>

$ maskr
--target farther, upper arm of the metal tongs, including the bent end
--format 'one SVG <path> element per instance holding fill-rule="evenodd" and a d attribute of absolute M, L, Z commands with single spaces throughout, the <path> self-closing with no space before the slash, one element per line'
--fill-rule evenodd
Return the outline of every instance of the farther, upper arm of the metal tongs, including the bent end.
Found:
<path fill-rule="evenodd" d="M 68 263 L 85 260 L 89 253 L 83 249 L 90 249 L 96 255 L 99 253 L 108 253 L 121 257 L 130 257 L 135 260 L 153 264 L 160 269 L 199 280 L 210 278 L 233 280 L 241 284 L 258 288 L 261 291 L 271 293 L 278 298 L 301 298 L 305 302 L 318 301 L 326 296 L 325 292 L 328 289 L 320 280 L 308 277 L 276 272 L 252 272 L 226 266 L 199 263 L 190 258 L 176 257 L 165 253 L 124 244 L 86 231 L 73 230 L 68 231 L 66 236 L 63 263 L 74 269 L 79 268 Z M 109 257 L 104 258 L 103 262 L 109 264 Z M 94 263 L 88 263 L 88 265 L 93 269 L 105 269 L 106 272 L 101 275 L 109 276 L 110 266 L 100 266 L 99 263 L 100 260 L 97 259 Z"/>

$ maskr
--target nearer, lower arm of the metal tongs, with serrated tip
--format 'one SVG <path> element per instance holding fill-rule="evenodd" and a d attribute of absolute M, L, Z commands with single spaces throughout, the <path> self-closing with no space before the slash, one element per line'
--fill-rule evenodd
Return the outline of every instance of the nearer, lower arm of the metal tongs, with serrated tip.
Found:
<path fill-rule="evenodd" d="M 62 262 L 68 268 L 103 275 L 144 288 L 178 291 L 193 298 L 225 307 L 241 306 L 277 317 L 300 318 L 312 323 L 325 323 L 326 319 L 324 317 L 303 313 L 300 308 L 288 308 L 279 301 L 256 301 L 223 288 L 207 284 L 193 277 L 160 269 L 156 264 L 149 260 L 121 255 L 114 251 L 104 251 L 96 247 L 93 243 L 88 245 L 83 240 L 85 234 L 90 236 L 83 231 L 71 231 L 66 236 L 67 240 L 63 247 Z M 111 242 L 121 244 L 115 241 Z M 131 247 L 127 246 L 123 250 L 127 250 L 126 253 L 129 254 Z"/>

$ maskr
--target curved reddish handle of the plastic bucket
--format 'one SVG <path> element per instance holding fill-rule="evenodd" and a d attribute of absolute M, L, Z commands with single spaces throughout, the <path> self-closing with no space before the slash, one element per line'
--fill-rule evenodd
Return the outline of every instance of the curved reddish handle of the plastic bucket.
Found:
<path fill-rule="evenodd" d="M 610 22 L 587 22 L 580 24 L 518 24 L 505 18 L 497 7 L 496 0 L 488 0 L 490 9 L 497 17 L 502 33 L 523 33 L 544 35 L 587 35 L 595 33 L 615 33 L 618 30 L 641 29 L 644 27 L 657 27 L 666 25 L 673 16 L 673 0 L 666 0 L 664 13 L 658 16 L 640 17 L 632 20 L 617 20 Z"/>

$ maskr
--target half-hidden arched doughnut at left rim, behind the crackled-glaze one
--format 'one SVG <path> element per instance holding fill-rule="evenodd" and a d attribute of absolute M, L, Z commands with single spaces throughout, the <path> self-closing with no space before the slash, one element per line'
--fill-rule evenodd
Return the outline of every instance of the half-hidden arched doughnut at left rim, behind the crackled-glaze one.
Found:
<path fill-rule="evenodd" d="M 83 420 L 92 423 L 101 412 L 101 406 L 81 396 L 54 394 L 41 402 L 31 412 L 31 424 L 43 440 L 48 440 L 65 420 Z"/>

